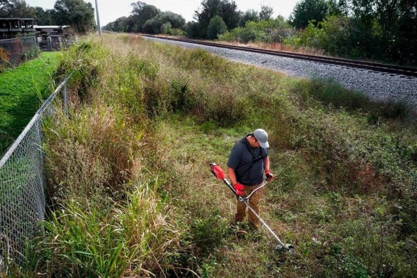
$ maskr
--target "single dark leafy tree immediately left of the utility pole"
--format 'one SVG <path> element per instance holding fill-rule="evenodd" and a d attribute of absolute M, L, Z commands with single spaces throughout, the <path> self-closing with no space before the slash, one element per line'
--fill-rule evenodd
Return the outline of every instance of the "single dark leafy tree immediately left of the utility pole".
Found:
<path fill-rule="evenodd" d="M 57 0 L 52 15 L 58 25 L 70 25 L 80 33 L 92 31 L 95 25 L 94 8 L 83 0 Z"/>

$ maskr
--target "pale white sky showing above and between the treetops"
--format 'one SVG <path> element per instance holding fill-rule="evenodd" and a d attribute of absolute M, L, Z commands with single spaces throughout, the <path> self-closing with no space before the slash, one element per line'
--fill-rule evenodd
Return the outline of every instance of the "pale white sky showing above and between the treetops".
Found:
<path fill-rule="evenodd" d="M 95 7 L 95 0 L 86 0 Z M 195 10 L 201 6 L 202 0 L 140 0 L 148 5 L 154 5 L 162 11 L 170 11 L 182 15 L 187 22 L 193 20 Z M 238 10 L 245 12 L 248 9 L 261 10 L 261 5 L 271 6 L 274 10 L 273 17 L 278 15 L 286 19 L 290 16 L 295 3 L 300 0 L 235 0 Z M 56 0 L 26 0 L 29 6 L 42 7 L 44 9 L 54 8 Z M 109 22 L 114 22 L 117 18 L 129 16 L 131 13 L 130 4 L 134 0 L 97 0 L 99 6 L 100 25 L 104 26 Z"/>

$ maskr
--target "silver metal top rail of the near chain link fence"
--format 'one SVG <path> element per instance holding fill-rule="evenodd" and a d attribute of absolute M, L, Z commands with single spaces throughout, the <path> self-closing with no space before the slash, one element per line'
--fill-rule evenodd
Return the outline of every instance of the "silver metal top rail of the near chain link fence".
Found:
<path fill-rule="evenodd" d="M 38 111 L 36 111 L 35 115 L 32 117 L 32 120 L 26 125 L 22 133 L 20 133 L 19 137 L 13 142 L 13 144 L 8 148 L 6 154 L 3 155 L 3 157 L 0 160 L 0 168 L 3 167 L 4 164 L 8 161 L 8 158 L 15 152 L 15 149 L 17 146 L 19 146 L 20 142 L 22 142 L 24 136 L 28 133 L 28 131 L 32 128 L 33 124 L 40 118 L 40 116 L 44 113 L 44 111 L 48 108 L 49 104 L 51 104 L 51 101 L 55 98 L 55 96 L 60 92 L 60 90 L 63 88 L 63 86 L 67 83 L 67 81 L 72 76 L 72 73 L 67 76 L 67 78 L 64 79 L 63 82 L 61 82 L 58 87 L 54 90 L 54 92 L 47 98 L 46 101 L 40 106 Z"/>

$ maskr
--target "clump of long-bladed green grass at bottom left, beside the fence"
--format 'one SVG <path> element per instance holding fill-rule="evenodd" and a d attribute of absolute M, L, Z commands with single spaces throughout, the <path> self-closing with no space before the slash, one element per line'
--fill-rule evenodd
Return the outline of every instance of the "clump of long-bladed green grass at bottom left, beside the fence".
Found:
<path fill-rule="evenodd" d="M 51 213 L 42 244 L 51 252 L 50 275 L 125 277 L 163 271 L 164 250 L 176 241 L 167 233 L 169 211 L 149 183 L 130 186 L 125 202 L 110 201 L 106 209 L 72 200 Z"/>

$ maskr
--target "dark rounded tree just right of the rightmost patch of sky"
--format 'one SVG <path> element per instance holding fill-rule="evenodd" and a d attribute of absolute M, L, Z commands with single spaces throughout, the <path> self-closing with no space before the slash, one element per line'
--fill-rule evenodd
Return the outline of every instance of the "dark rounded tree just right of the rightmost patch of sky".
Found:
<path fill-rule="evenodd" d="M 311 20 L 322 22 L 328 13 L 329 6 L 325 0 L 302 0 L 295 5 L 290 22 L 295 28 L 305 28 Z"/>

